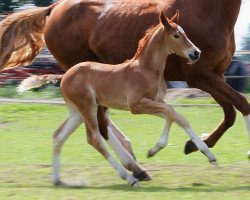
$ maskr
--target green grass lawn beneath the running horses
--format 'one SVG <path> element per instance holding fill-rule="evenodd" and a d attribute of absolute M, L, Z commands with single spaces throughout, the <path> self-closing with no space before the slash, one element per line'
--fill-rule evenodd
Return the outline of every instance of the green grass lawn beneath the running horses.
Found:
<path fill-rule="evenodd" d="M 222 120 L 219 107 L 176 108 L 197 134 Z M 184 155 L 188 136 L 173 125 L 169 145 L 155 157 L 146 153 L 161 135 L 157 117 L 111 110 L 111 118 L 131 139 L 137 160 L 153 180 L 131 188 L 86 142 L 81 126 L 62 151 L 62 179 L 85 187 L 54 187 L 50 182 L 52 133 L 67 116 L 65 106 L 0 104 L 0 199 L 250 199 L 250 149 L 242 116 L 212 149 L 219 167 L 200 152 Z"/>

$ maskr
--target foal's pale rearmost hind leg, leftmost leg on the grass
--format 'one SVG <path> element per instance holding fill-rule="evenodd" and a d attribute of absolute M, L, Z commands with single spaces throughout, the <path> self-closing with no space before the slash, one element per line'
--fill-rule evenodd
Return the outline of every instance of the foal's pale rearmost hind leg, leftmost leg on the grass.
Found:
<path fill-rule="evenodd" d="M 82 123 L 79 112 L 72 107 L 69 108 L 69 117 L 55 131 L 53 136 L 53 164 L 52 164 L 52 181 L 54 185 L 62 185 L 60 180 L 60 152 L 66 139 L 72 134 Z"/>

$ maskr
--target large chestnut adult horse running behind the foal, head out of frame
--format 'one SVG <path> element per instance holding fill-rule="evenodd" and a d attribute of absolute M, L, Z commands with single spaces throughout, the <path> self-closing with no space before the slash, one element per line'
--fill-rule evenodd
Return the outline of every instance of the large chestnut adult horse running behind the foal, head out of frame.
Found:
<path fill-rule="evenodd" d="M 250 135 L 250 105 L 223 79 L 235 51 L 234 25 L 240 5 L 241 0 L 62 0 L 10 15 L 1 23 L 0 69 L 30 63 L 45 43 L 64 70 L 86 60 L 123 62 L 135 53 L 146 29 L 157 24 L 159 10 L 173 15 L 178 9 L 179 24 L 203 53 L 194 66 L 170 56 L 165 80 L 187 81 L 222 106 L 223 121 L 204 138 L 213 147 L 234 124 L 235 108 L 244 115 Z M 116 136 L 129 146 L 102 109 L 98 119 L 104 138 L 106 124 L 111 123 Z M 186 154 L 196 150 L 193 142 L 186 144 Z"/>

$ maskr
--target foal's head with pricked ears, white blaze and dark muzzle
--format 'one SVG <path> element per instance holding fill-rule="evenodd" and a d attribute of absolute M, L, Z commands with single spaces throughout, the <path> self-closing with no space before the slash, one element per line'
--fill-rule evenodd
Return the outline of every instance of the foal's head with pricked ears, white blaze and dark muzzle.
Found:
<path fill-rule="evenodd" d="M 199 60 L 201 51 L 188 39 L 184 30 L 177 25 L 178 18 L 179 11 L 176 11 L 171 19 L 168 19 L 164 12 L 160 14 L 160 22 L 166 33 L 166 46 L 168 46 L 170 53 L 188 59 L 189 63 L 195 63 Z"/>

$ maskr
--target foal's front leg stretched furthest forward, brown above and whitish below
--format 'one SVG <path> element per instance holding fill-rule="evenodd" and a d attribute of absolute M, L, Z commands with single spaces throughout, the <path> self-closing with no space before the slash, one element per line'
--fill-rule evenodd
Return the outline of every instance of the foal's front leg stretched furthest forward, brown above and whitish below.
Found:
<path fill-rule="evenodd" d="M 163 102 L 155 102 L 147 98 L 142 98 L 139 102 L 130 104 L 130 110 L 134 114 L 165 114 L 167 121 L 170 121 L 170 123 L 171 121 L 174 121 L 180 125 L 190 136 L 191 140 L 197 145 L 198 149 L 207 156 L 209 162 L 211 164 L 216 164 L 216 158 L 209 150 L 207 145 L 202 142 L 198 136 L 196 136 L 188 121 L 182 115 L 175 112 L 171 105 L 167 105 Z"/>

